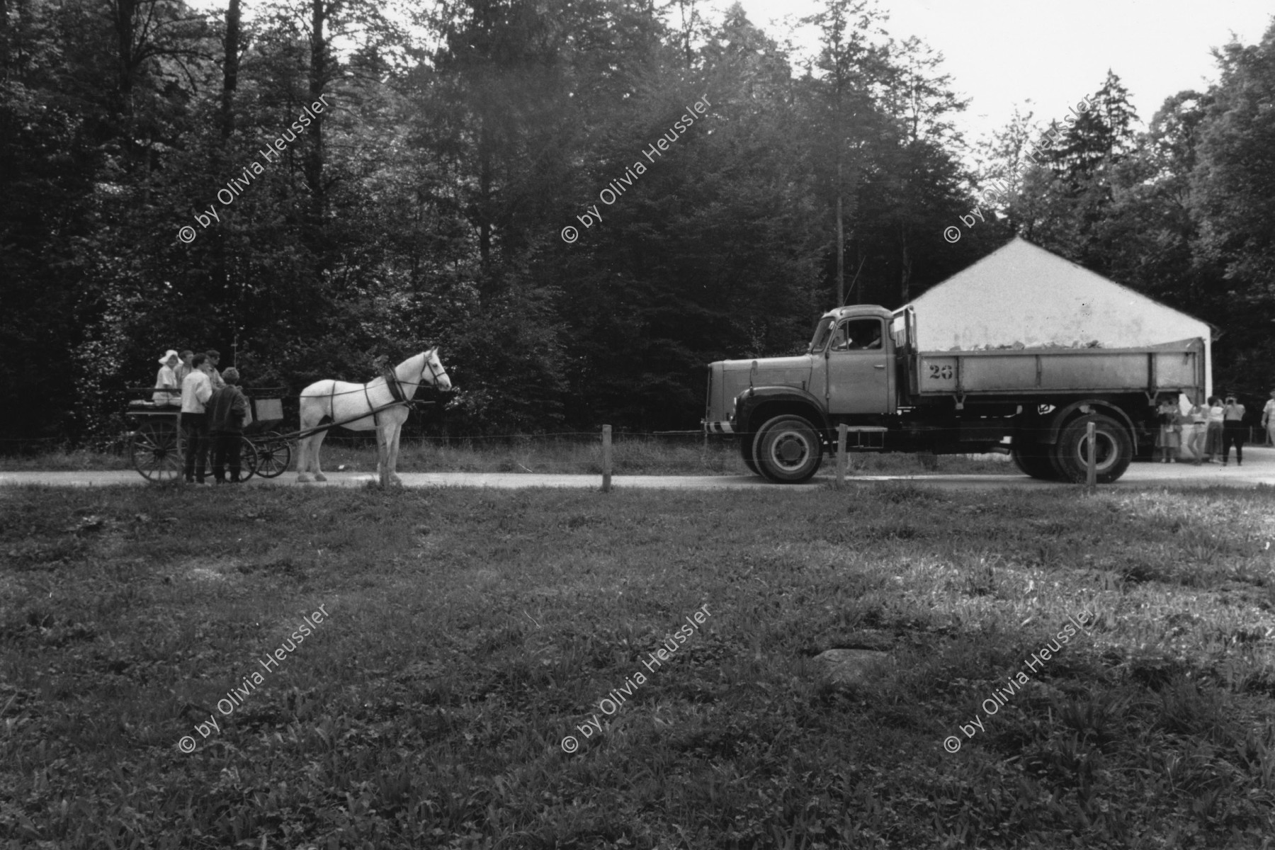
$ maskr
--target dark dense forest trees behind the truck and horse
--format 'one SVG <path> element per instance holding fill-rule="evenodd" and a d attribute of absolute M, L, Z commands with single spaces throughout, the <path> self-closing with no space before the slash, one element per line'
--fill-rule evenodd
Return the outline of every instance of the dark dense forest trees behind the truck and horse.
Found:
<path fill-rule="evenodd" d="M 829 0 L 810 61 L 740 6 L 453 0 L 413 40 L 382 5 L 0 3 L 0 437 L 108 433 L 170 347 L 295 394 L 439 343 L 456 433 L 694 427 L 709 361 L 1015 231 L 1216 324 L 1219 380 L 1270 377 L 1271 33 L 1146 134 L 1114 75 L 1039 164 L 1020 121 L 997 220 L 937 57 L 867 3 Z"/>

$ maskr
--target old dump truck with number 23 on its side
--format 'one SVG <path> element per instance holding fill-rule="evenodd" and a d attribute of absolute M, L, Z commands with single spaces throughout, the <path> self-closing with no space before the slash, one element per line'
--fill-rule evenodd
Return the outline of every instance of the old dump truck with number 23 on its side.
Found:
<path fill-rule="evenodd" d="M 1137 348 L 918 350 L 912 306 L 824 313 L 805 354 L 709 364 L 706 433 L 778 483 L 810 479 L 845 424 L 852 450 L 1009 452 L 1028 475 L 1100 483 L 1149 452 L 1164 399 L 1204 400 L 1204 340 Z"/>

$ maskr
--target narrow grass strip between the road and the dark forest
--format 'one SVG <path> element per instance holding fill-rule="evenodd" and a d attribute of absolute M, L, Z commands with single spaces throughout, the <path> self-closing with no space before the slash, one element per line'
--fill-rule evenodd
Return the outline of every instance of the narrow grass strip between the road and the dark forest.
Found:
<path fill-rule="evenodd" d="M 613 445 L 612 465 L 617 475 L 746 475 L 748 474 L 733 442 L 703 438 L 623 438 Z M 351 438 L 329 438 L 323 445 L 325 472 L 344 468 L 353 472 L 376 469 L 376 445 Z M 899 473 L 1006 473 L 1019 474 L 1009 457 L 1001 455 L 904 455 L 856 454 L 850 456 L 858 472 Z M 831 461 L 825 457 L 825 464 Z M 0 456 L 0 472 L 131 469 L 125 454 L 88 450 L 59 450 L 41 454 Z M 292 468 L 296 468 L 293 461 Z M 520 437 L 509 441 L 473 441 L 455 446 L 428 441 L 404 442 L 398 470 L 404 473 L 550 473 L 602 474 L 602 446 L 583 437 Z"/>

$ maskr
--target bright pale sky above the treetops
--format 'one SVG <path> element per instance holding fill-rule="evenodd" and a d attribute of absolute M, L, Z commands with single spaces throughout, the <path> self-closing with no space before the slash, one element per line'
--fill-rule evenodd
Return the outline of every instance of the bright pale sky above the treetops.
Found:
<path fill-rule="evenodd" d="M 773 19 L 819 9 L 813 0 L 741 0 L 748 18 L 775 38 Z M 731 0 L 714 0 L 715 9 Z M 1170 94 L 1216 78 L 1210 50 L 1234 33 L 1256 43 L 1271 0 L 878 0 L 896 40 L 917 36 L 943 54 L 956 92 L 970 98 L 958 119 L 977 145 L 1009 124 L 1028 99 L 1035 120 L 1061 119 L 1102 85 L 1107 69 L 1128 89 L 1142 125 Z M 1065 11 L 1063 11 L 1065 9 Z M 806 43 L 801 40 L 799 43 Z M 1024 108 L 1024 112 L 1026 111 Z M 1139 129 L 1142 129 L 1141 126 Z"/>

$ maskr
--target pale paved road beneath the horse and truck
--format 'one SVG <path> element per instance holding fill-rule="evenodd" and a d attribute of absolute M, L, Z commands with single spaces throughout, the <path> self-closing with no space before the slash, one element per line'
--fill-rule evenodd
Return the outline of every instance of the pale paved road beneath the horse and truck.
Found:
<path fill-rule="evenodd" d="M 1243 466 L 1223 468 L 1216 464 L 1149 464 L 1139 463 L 1130 466 L 1116 484 L 1111 487 L 1275 487 L 1275 449 L 1246 447 Z M 826 470 L 812 482 L 792 487 L 803 489 L 833 480 Z M 323 484 L 297 484 L 296 473 L 284 473 L 279 478 L 263 480 L 254 478 L 250 487 L 362 487 L 374 480 L 371 473 L 326 473 L 328 482 Z M 601 475 L 544 475 L 538 473 L 400 473 L 407 487 L 495 487 L 518 489 L 524 487 L 569 487 L 597 488 L 602 484 Z M 1058 487 L 1051 482 L 1040 482 L 1026 475 L 850 475 L 849 482 L 907 480 L 933 487 L 952 487 L 961 489 L 987 489 L 996 487 L 1046 488 Z M 55 487 L 102 487 L 107 484 L 144 484 L 145 480 L 131 470 L 105 472 L 0 472 L 0 487 L 14 484 L 48 484 Z M 612 483 L 618 489 L 751 489 L 776 488 L 752 475 L 616 475 Z"/>

